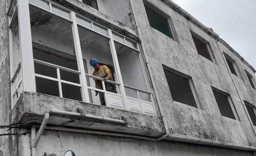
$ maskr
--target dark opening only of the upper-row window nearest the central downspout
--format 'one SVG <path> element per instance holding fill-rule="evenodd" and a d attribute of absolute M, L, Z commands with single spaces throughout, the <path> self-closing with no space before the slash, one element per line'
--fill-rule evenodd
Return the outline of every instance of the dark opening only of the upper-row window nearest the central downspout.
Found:
<path fill-rule="evenodd" d="M 152 8 L 145 6 L 149 25 L 173 39 L 168 20 Z"/>

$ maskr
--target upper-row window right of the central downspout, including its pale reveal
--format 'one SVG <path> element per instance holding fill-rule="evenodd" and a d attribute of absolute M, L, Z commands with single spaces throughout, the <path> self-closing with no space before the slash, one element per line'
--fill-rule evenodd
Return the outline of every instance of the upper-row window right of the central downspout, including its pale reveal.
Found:
<path fill-rule="evenodd" d="M 158 10 L 152 4 L 146 1 L 144 1 L 144 3 L 146 3 L 144 4 L 144 7 L 147 13 L 149 25 L 166 36 L 177 40 L 170 17 L 164 12 Z"/>

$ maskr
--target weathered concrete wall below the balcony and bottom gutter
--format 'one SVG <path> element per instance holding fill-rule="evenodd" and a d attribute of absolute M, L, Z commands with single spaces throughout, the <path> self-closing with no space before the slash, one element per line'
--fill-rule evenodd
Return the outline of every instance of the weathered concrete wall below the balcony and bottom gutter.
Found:
<path fill-rule="evenodd" d="M 29 144 L 29 141 L 30 134 L 22 136 L 23 143 Z M 28 146 L 21 148 L 21 156 L 30 155 Z M 37 146 L 38 155 L 46 152 L 63 156 L 68 150 L 76 156 L 252 156 L 250 152 L 60 130 L 45 130 Z"/>

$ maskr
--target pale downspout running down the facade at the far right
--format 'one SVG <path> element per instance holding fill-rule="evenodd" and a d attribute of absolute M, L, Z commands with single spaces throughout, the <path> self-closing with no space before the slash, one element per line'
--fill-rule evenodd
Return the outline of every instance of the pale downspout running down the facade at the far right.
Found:
<path fill-rule="evenodd" d="M 243 102 L 242 97 L 241 97 L 241 95 L 240 95 L 240 93 L 239 93 L 239 91 L 238 91 L 238 87 L 237 87 L 237 85 L 236 85 L 236 83 L 235 83 L 235 80 L 234 80 L 234 78 L 233 78 L 233 75 L 232 75 L 232 73 L 231 73 L 231 71 L 230 71 L 230 69 L 229 69 L 228 62 L 227 62 L 227 60 L 226 60 L 226 58 L 225 58 L 225 55 L 224 55 L 222 49 L 220 48 L 219 41 L 217 41 L 217 44 L 218 44 L 220 53 L 222 54 L 222 57 L 223 57 L 223 59 L 224 59 L 224 61 L 225 61 L 225 63 L 226 63 L 226 66 L 227 66 L 227 68 L 228 68 L 230 77 L 231 77 L 231 79 L 232 79 L 232 81 L 233 81 L 233 83 L 234 83 L 234 86 L 235 86 L 235 89 L 236 89 L 236 91 L 237 91 L 237 94 L 238 94 L 238 96 L 239 96 L 239 98 L 240 98 L 240 101 L 242 102 L 243 108 L 245 109 L 246 115 L 247 115 L 247 117 L 248 117 L 248 119 L 249 119 L 249 122 L 250 122 L 250 124 L 251 124 L 251 126 L 252 126 L 252 129 L 253 129 L 253 131 L 254 131 L 254 134 L 256 135 L 256 131 L 255 131 L 254 125 L 253 125 L 253 123 L 252 123 L 251 117 L 250 117 L 250 115 L 249 115 L 249 113 L 248 113 L 248 111 L 247 111 L 245 102 Z"/>

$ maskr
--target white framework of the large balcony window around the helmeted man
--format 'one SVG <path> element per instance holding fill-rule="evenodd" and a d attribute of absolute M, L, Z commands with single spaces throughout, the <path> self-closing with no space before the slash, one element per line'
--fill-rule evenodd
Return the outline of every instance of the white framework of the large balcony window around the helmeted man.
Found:
<path fill-rule="evenodd" d="M 25 2 L 24 2 L 25 1 Z M 154 100 L 153 100 L 153 96 L 152 96 L 152 93 L 150 92 L 150 87 L 149 87 L 149 83 L 148 83 L 148 79 L 146 77 L 146 73 L 145 73 L 145 67 L 142 63 L 142 56 L 141 56 L 141 53 L 140 53 L 140 49 L 139 49 L 139 44 L 137 41 L 134 41 L 133 39 L 130 39 L 130 38 L 126 38 L 125 36 L 115 32 L 115 34 L 118 34 L 120 36 L 122 36 L 124 38 L 124 43 L 121 43 L 117 40 L 114 40 L 113 39 L 113 35 L 112 35 L 112 30 L 109 29 L 109 28 L 106 28 L 100 24 L 97 24 L 95 23 L 94 21 L 88 19 L 88 18 L 85 18 L 83 17 L 82 15 L 79 15 L 63 6 L 60 6 L 58 4 L 55 4 L 49 0 L 43 0 L 43 1 L 46 1 L 49 3 L 49 10 L 48 9 L 44 9 L 43 7 L 40 7 L 40 6 L 37 6 L 37 5 L 34 5 L 33 3 L 29 2 L 29 0 L 18 0 L 18 8 L 19 8 L 19 23 L 21 25 L 21 28 L 20 30 L 23 31 L 23 29 L 25 30 L 24 32 L 27 32 L 27 33 L 22 33 L 21 34 L 21 39 L 22 38 L 28 38 L 28 39 L 23 39 L 21 41 L 21 47 L 23 47 L 21 49 L 21 52 L 22 52 L 22 59 L 21 59 L 21 69 L 24 69 L 22 70 L 22 75 L 23 75 L 23 79 L 22 79 L 22 82 L 24 80 L 24 83 L 23 83 L 23 90 L 24 91 L 28 91 L 28 92 L 36 92 L 36 82 L 35 82 L 35 76 L 37 77 L 42 77 L 42 78 L 45 78 L 45 79 L 48 79 L 48 80 L 53 80 L 53 81 L 57 81 L 59 83 L 59 91 L 60 91 L 60 97 L 62 97 L 62 89 L 61 89 L 61 83 L 66 83 L 66 84 L 70 84 L 70 85 L 74 85 L 74 86 L 79 86 L 82 88 L 82 98 L 83 98 L 83 101 L 89 103 L 90 102 L 90 98 L 89 98 L 89 93 L 88 93 L 88 89 L 90 90 L 95 90 L 95 91 L 100 91 L 100 92 L 104 92 L 106 94 L 111 94 L 111 95 L 118 95 L 120 96 L 120 94 L 116 94 L 116 93 L 112 93 L 112 92 L 108 92 L 106 91 L 106 88 L 104 86 L 104 81 L 102 78 L 100 77 L 96 77 L 96 76 L 93 76 L 93 75 L 90 75 L 90 74 L 87 74 L 85 73 L 85 69 L 84 69 L 84 64 L 83 64 L 83 57 L 82 57 L 82 51 L 81 51 L 81 48 L 80 48 L 80 41 L 79 41 L 79 35 L 78 35 L 78 29 L 77 29 L 77 26 L 81 26 L 83 28 L 85 28 L 86 30 L 89 30 L 95 34 L 98 34 L 104 38 L 107 38 L 109 39 L 109 43 L 110 43 L 110 48 L 111 48 L 111 53 L 112 53 L 112 58 L 113 58 L 113 62 L 114 62 L 114 67 L 115 67 L 115 71 L 117 72 L 116 74 L 116 77 L 117 77 L 117 82 L 113 82 L 113 81 L 109 81 L 107 80 L 106 82 L 109 82 L 111 84 L 114 84 L 114 85 L 118 85 L 119 88 L 120 88 L 120 93 L 121 93 L 121 97 L 122 97 L 122 100 L 123 100 L 123 105 L 124 107 L 122 109 L 124 110 L 128 110 L 128 107 L 127 107 L 127 98 L 130 98 L 130 97 L 126 97 L 126 94 L 125 94 L 125 91 L 124 91 L 124 87 L 127 87 L 127 88 L 132 88 L 132 89 L 135 89 L 137 94 L 138 94 L 138 99 L 137 98 L 134 98 L 133 100 L 137 100 L 139 101 L 140 103 L 144 103 L 143 106 L 141 106 L 141 110 L 142 112 L 139 112 L 139 113 L 143 113 L 143 114 L 148 114 L 148 115 L 153 115 L 153 116 L 156 116 L 156 107 L 155 107 L 155 104 L 154 104 Z M 70 19 L 67 19 L 65 17 L 62 17 L 61 15 L 59 14 L 56 14 L 54 12 L 52 12 L 52 9 L 51 9 L 51 4 L 57 6 L 57 7 L 60 7 L 66 11 L 69 11 L 70 12 Z M 76 51 L 76 59 L 77 59 L 77 65 L 78 65 L 78 71 L 76 70 L 73 70 L 73 69 L 69 69 L 69 68 L 65 68 L 65 67 L 62 67 L 62 66 L 58 66 L 58 65 L 55 65 L 55 64 L 52 64 L 52 63 L 48 63 L 48 62 L 45 62 L 45 61 L 40 61 L 40 60 L 37 60 L 37 59 L 33 59 L 33 52 L 32 52 L 32 40 L 31 40 L 31 30 L 30 30 L 30 16 L 29 16 L 29 5 L 32 5 L 33 7 L 36 7 L 38 9 L 41 9 L 41 10 L 44 10 L 44 11 L 47 11 L 48 13 L 50 14 L 53 14 L 57 17 L 60 17 L 62 18 L 63 20 L 67 21 L 67 22 L 70 22 L 72 24 L 72 31 L 73 31 L 73 37 L 74 37 L 74 44 L 75 44 L 75 51 Z M 20 18 L 20 17 L 23 17 L 23 18 Z M 83 26 L 82 24 L 78 24 L 76 22 L 76 17 L 79 17 L 81 19 L 85 19 L 86 21 L 90 21 L 91 22 L 91 25 L 92 25 L 92 28 L 88 28 L 88 27 L 85 27 Z M 23 22 L 20 22 L 22 21 L 23 19 Z M 13 19 L 10 19 L 10 21 L 12 21 Z M 94 25 L 97 25 L 101 28 L 104 28 L 106 29 L 107 33 L 108 33 L 108 36 L 105 35 L 105 34 L 102 34 L 96 30 L 94 30 Z M 26 28 L 24 28 L 25 26 L 27 26 Z M 137 49 L 136 48 L 133 48 L 129 45 L 126 44 L 126 39 L 129 39 L 130 41 L 136 43 L 137 45 Z M 144 78 L 145 78 L 145 81 L 146 81 L 146 85 L 147 85 L 147 91 L 145 90 L 141 90 L 141 89 L 138 89 L 138 88 L 134 88 L 134 87 L 131 87 L 131 86 L 126 86 L 123 84 L 123 81 L 122 81 L 122 77 L 121 77 L 121 72 L 120 72 L 120 67 L 119 67 L 119 63 L 118 63 L 118 59 L 117 59 L 117 54 L 116 54 L 116 51 L 115 51 L 115 45 L 114 45 L 114 42 L 117 42 L 127 48 L 130 48 L 136 52 L 139 53 L 139 59 L 140 59 L 140 63 L 141 63 L 141 66 L 142 66 L 142 70 L 143 70 L 143 74 L 144 74 Z M 10 47 L 12 47 L 12 45 L 10 45 Z M 25 48 L 24 48 L 25 47 Z M 26 50 L 26 52 L 24 52 Z M 27 56 L 29 55 L 30 57 L 24 57 L 24 56 Z M 25 63 L 24 63 L 25 61 Z M 36 74 L 34 73 L 34 62 L 36 63 L 40 63 L 40 64 L 43 64 L 43 65 L 47 65 L 47 66 L 51 66 L 51 67 L 54 67 L 57 69 L 57 79 L 56 78 L 53 78 L 53 77 L 49 77 L 49 76 L 45 76 L 45 75 L 41 75 L 41 74 Z M 23 63 L 23 64 L 22 64 Z M 66 71 L 69 71 L 69 72 L 73 72 L 73 73 L 77 73 L 79 74 L 79 79 L 80 79 L 80 84 L 76 84 L 76 83 L 72 83 L 72 82 L 68 82 L 68 81 L 64 81 L 64 80 L 61 80 L 60 79 L 60 72 L 59 70 L 60 69 L 63 69 L 63 70 L 66 70 Z M 28 79 L 28 77 L 30 77 L 30 79 Z M 32 77 L 32 78 L 31 78 Z M 86 77 L 91 77 L 91 78 L 94 78 L 94 79 L 97 79 L 99 81 L 102 81 L 102 84 L 103 84 L 103 90 L 99 90 L 99 89 L 96 89 L 96 88 L 93 88 L 93 87 L 88 87 L 87 86 L 87 81 L 86 81 Z M 30 80 L 29 82 L 27 81 Z M 31 82 L 34 82 L 34 83 L 31 83 Z M 20 81 L 21 83 L 21 81 Z M 146 93 L 146 94 L 149 94 L 150 95 L 150 100 L 151 102 L 148 102 L 148 101 L 144 101 L 144 100 L 141 100 L 139 98 L 139 92 L 142 92 L 142 93 Z M 16 92 L 15 92 L 16 93 Z M 153 113 L 150 113 L 150 112 L 147 112 L 146 110 L 146 107 L 147 106 L 151 106 L 152 105 L 152 109 L 153 109 Z M 131 110 L 129 110 L 131 111 Z M 136 112 L 136 111 L 135 111 Z"/>

